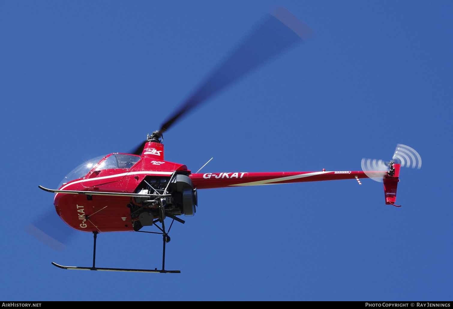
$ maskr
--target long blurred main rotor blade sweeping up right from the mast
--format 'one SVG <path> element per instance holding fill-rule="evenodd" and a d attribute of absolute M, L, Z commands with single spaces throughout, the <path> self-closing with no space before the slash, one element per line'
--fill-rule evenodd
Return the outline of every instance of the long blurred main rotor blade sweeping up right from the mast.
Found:
<path fill-rule="evenodd" d="M 269 14 L 235 51 L 221 63 L 171 117 L 162 124 L 160 133 L 178 119 L 244 77 L 285 49 L 309 39 L 312 31 L 284 8 Z"/>

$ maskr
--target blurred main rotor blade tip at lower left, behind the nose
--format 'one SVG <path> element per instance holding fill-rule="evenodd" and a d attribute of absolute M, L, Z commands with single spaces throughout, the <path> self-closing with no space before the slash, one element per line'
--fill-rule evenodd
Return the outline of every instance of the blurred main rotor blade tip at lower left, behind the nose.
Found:
<path fill-rule="evenodd" d="M 58 216 L 54 207 L 35 219 L 25 228 L 25 231 L 57 251 L 64 250 L 76 234 L 76 230 L 69 227 Z"/>

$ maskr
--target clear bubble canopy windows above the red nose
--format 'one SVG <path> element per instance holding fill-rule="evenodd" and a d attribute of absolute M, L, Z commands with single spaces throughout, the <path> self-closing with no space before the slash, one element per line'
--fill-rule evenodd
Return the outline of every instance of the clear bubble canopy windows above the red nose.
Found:
<path fill-rule="evenodd" d="M 96 170 L 130 169 L 138 161 L 140 161 L 140 156 L 118 153 L 101 155 L 96 158 L 86 160 L 82 164 L 79 164 L 75 169 L 72 169 L 72 171 L 69 172 L 69 174 L 67 174 L 58 184 L 58 188 L 61 188 L 63 184 L 71 180 L 85 177 L 93 168 L 96 168 Z"/>

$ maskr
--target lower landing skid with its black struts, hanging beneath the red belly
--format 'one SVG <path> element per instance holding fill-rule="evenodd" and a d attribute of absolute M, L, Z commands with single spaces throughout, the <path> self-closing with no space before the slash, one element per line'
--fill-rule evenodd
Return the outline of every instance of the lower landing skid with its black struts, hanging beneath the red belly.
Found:
<path fill-rule="evenodd" d="M 170 228 L 168 232 L 170 232 L 170 229 L 173 225 L 175 219 L 170 224 Z M 170 237 L 168 236 L 168 232 L 165 232 L 165 225 L 164 225 L 164 220 L 162 220 L 162 228 L 156 225 L 156 222 L 159 222 L 159 219 L 156 219 L 154 222 L 154 225 L 159 228 L 162 232 L 145 232 L 144 233 L 152 233 L 152 234 L 161 234 L 163 238 L 163 251 L 162 251 L 162 269 L 157 269 L 155 268 L 154 270 L 151 269 L 130 269 L 130 268 L 105 268 L 105 267 L 96 267 L 95 266 L 95 261 L 96 261 L 96 238 L 98 232 L 95 231 L 93 232 L 93 266 L 92 267 L 79 267 L 79 266 L 63 266 L 59 265 L 55 262 L 52 262 L 53 266 L 56 266 L 61 269 L 71 269 L 71 270 L 104 270 L 104 271 L 126 271 L 126 272 L 145 272 L 145 273 L 171 273 L 171 274 L 180 274 L 181 270 L 165 270 L 165 243 L 170 241 Z M 183 220 L 181 220 L 183 221 Z M 137 231 L 137 232 L 142 232 L 142 231 Z"/>

